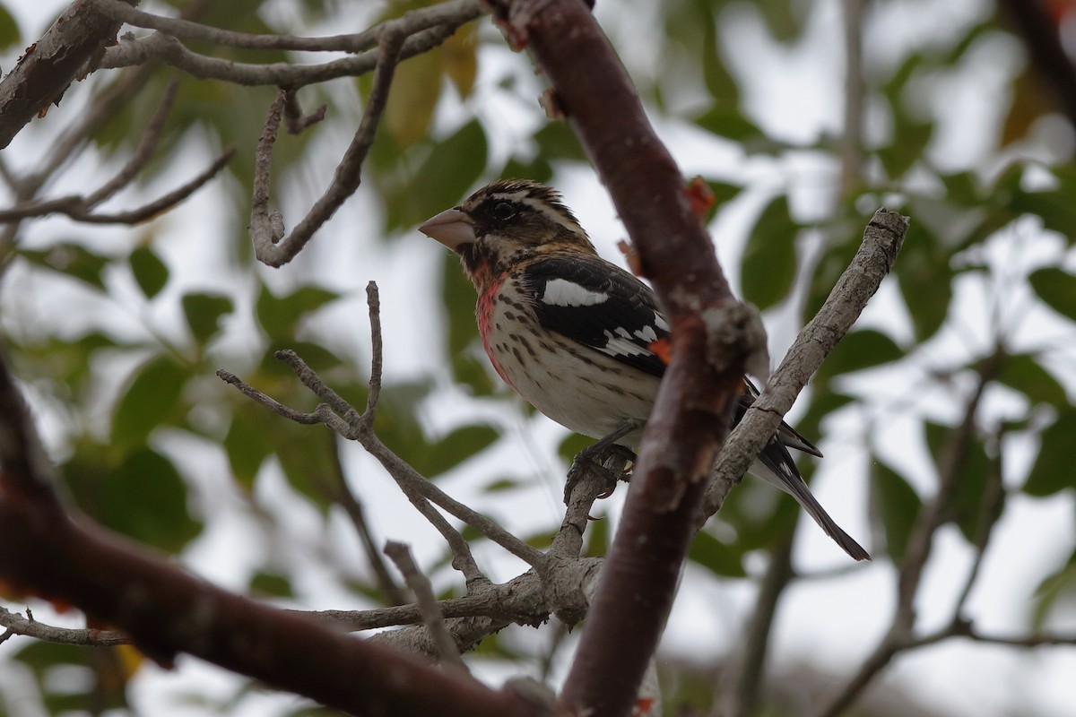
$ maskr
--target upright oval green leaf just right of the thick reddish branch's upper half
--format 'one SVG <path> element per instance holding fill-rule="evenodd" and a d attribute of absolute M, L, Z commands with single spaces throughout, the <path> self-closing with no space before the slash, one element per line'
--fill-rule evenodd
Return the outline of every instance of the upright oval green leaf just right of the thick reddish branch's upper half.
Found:
<path fill-rule="evenodd" d="M 777 304 L 792 290 L 797 230 L 784 195 L 775 197 L 755 220 L 740 264 L 740 286 L 744 299 L 760 310 Z"/>

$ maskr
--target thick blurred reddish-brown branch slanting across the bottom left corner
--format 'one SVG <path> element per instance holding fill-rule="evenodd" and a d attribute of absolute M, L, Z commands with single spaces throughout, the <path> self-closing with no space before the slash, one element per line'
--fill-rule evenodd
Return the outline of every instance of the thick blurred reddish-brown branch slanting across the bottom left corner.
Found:
<path fill-rule="evenodd" d="M 122 626 L 159 662 L 170 664 L 178 653 L 188 653 L 358 715 L 541 714 L 410 655 L 215 588 L 60 512 L 22 500 L 9 490 L 17 483 L 10 478 L 0 478 L 3 579 Z"/>

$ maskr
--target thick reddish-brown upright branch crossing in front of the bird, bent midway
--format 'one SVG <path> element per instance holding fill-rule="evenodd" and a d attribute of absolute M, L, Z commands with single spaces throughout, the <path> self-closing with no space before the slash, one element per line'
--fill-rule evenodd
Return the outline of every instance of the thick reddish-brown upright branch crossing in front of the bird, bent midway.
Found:
<path fill-rule="evenodd" d="M 732 357 L 719 373 L 705 350 L 703 313 L 733 297 L 676 162 L 586 5 L 491 4 L 509 40 L 530 49 L 553 85 L 672 326 L 672 362 L 558 706 L 564 714 L 626 715 L 671 606 L 691 518 L 739 389 L 744 357 Z"/>

